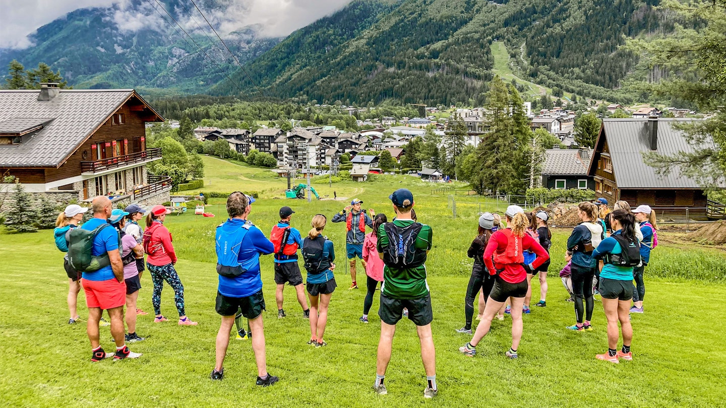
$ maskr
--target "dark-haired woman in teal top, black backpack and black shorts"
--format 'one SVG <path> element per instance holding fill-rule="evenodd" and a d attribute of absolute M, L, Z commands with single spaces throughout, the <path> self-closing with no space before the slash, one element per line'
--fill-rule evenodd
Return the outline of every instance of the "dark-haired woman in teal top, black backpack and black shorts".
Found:
<path fill-rule="evenodd" d="M 600 242 L 592 258 L 603 259 L 600 273 L 600 295 L 608 319 L 608 352 L 595 358 L 619 363 L 619 359 L 632 360 L 630 345 L 633 329 L 630 324 L 630 298 L 633 292 L 633 266 L 640 264 L 640 244 L 635 237 L 635 217 L 624 210 L 611 213 L 611 227 L 615 232 Z M 618 322 L 623 335 L 623 348 L 618 350 Z"/>

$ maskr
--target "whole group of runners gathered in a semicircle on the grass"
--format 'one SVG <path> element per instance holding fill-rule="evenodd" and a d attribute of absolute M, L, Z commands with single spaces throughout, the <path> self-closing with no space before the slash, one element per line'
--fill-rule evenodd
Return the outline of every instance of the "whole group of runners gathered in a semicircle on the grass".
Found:
<path fill-rule="evenodd" d="M 389 196 L 393 219 L 372 209 L 364 211 L 361 200 L 352 200 L 333 222 L 346 222 L 346 258 L 351 269 L 351 286 L 357 289 L 356 258 L 366 274 L 367 293 L 364 298 L 360 321 L 368 323 L 368 314 L 380 282 L 381 321 L 378 357 L 373 388 L 378 394 L 386 394 L 385 375 L 391 360 L 393 335 L 396 324 L 408 317 L 417 327 L 421 356 L 426 374 L 425 398 L 436 396 L 436 351 L 431 334 L 433 312 L 431 295 L 426 280 L 425 261 L 432 248 L 431 227 L 417 221 L 414 197 L 407 189 L 397 189 Z M 279 378 L 266 368 L 266 351 L 262 312 L 266 309 L 262 292 L 260 257 L 274 254 L 274 281 L 277 285 L 275 301 L 277 317 L 287 317 L 283 308 L 285 284 L 295 288 L 302 315 L 309 319 L 311 346 L 325 347 L 325 328 L 330 298 L 337 287 L 334 271 L 335 246 L 325 236 L 327 216 L 317 214 L 311 219 L 311 229 L 305 237 L 298 229 L 290 227 L 295 211 L 288 206 L 280 208 L 280 221 L 266 235 L 250 221 L 255 199 L 242 192 L 234 192 L 227 198 L 229 219 L 216 228 L 216 271 L 219 284 L 216 295 L 216 312 L 221 315 L 221 325 L 216 336 L 216 362 L 211 372 L 212 380 L 224 378 L 224 359 L 229 346 L 232 327 L 236 325 L 237 339 L 250 339 L 258 369 L 257 385 L 267 386 Z M 605 207 L 607 203 L 605 202 Z M 632 213 L 627 203 L 616 204 L 616 211 L 600 216 L 593 203 L 580 203 L 582 224 L 576 227 L 568 239 L 567 261 L 571 274 L 571 293 L 574 297 L 576 324 L 568 329 L 592 330 L 593 288 L 603 297 L 608 319 L 608 353 L 598 354 L 598 359 L 618 362 L 632 359 L 630 341 L 632 327 L 629 312 L 643 311 L 643 268 L 648 263 L 650 248 L 657 242 L 654 213 L 647 205 L 641 205 Z M 89 308 L 87 333 L 91 342 L 91 361 L 105 359 L 107 354 L 99 343 L 99 322 L 102 311 L 110 317 L 111 333 L 115 340 L 114 360 L 137 358 L 141 354 L 129 350 L 126 343 L 144 340 L 136 334 L 136 315 L 146 314 L 136 304 L 140 277 L 149 269 L 154 285 L 152 305 L 154 322 L 165 322 L 160 311 L 160 295 L 163 282 L 174 289 L 174 299 L 179 312 L 179 325 L 197 325 L 184 310 L 184 286 L 174 269 L 176 253 L 171 233 L 163 226 L 170 213 L 163 205 L 144 211 L 139 205 L 129 205 L 124 210 L 113 209 L 107 197 L 96 197 L 91 203 L 93 218 L 80 224 L 87 208 L 69 205 L 57 220 L 55 239 L 60 250 L 67 252 L 64 260 L 70 288 L 68 307 L 69 323 L 78 322 L 76 299 L 80 287 L 86 293 Z M 604 211 L 604 210 L 603 210 Z M 635 216 L 633 215 L 635 213 Z M 145 229 L 139 225 L 146 216 Z M 535 306 L 546 307 L 547 269 L 550 264 L 552 234 L 547 227 L 547 213 L 526 214 L 517 205 L 510 205 L 504 214 L 506 227 L 499 215 L 484 213 L 478 219 L 478 234 L 470 245 L 468 256 L 473 258 L 473 269 L 465 294 L 465 326 L 458 332 L 473 335 L 460 348 L 467 356 L 476 355 L 476 346 L 486 336 L 494 317 L 512 317 L 512 343 L 505 352 L 511 359 L 518 358 L 518 346 L 523 333 L 523 314 L 530 313 L 531 280 L 539 274 L 540 300 Z M 635 220 L 641 221 L 640 228 Z M 371 231 L 367 232 L 367 228 Z M 646 231 L 647 229 L 647 231 Z M 607 237 L 610 232 L 610 237 Z M 640 232 L 640 234 L 638 234 Z M 81 239 L 92 243 L 94 258 L 89 267 L 79 256 Z M 87 245 L 86 245 L 87 246 Z M 648 248 L 644 250 L 643 247 Z M 637 251 L 637 260 L 633 256 Z M 144 264 L 144 255 L 147 256 Z M 306 282 L 298 261 L 302 258 L 306 269 Z M 636 262 L 637 261 L 637 262 Z M 602 270 L 598 263 L 603 264 Z M 78 272 L 81 270 L 81 272 Z M 640 276 L 640 280 L 638 280 Z M 632 280 L 637 282 L 637 289 Z M 595 282 L 595 280 L 599 282 Z M 78 282 L 81 282 L 79 285 Z M 307 293 L 307 298 L 305 295 Z M 479 298 L 481 322 L 473 331 L 474 301 Z M 636 302 L 630 307 L 630 300 Z M 626 304 L 627 303 L 627 304 Z M 126 306 L 125 333 L 123 306 Z M 245 331 L 242 320 L 247 319 Z M 624 344 L 616 350 L 619 335 L 617 323 L 621 323 Z M 254 335 L 253 335 L 254 333 Z"/>

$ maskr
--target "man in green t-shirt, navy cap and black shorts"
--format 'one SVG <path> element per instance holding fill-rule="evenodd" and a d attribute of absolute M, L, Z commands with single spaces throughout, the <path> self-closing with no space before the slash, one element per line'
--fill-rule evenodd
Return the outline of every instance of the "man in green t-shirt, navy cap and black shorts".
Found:
<path fill-rule="evenodd" d="M 409 310 L 408 318 L 416 325 L 421 344 L 421 359 L 426 372 L 426 388 L 423 396 L 433 398 L 438 393 L 436 385 L 436 349 L 431 336 L 431 295 L 426 282 L 425 261 L 431 250 L 431 227 L 419 224 L 411 218 L 413 195 L 407 189 L 397 189 L 389 197 L 396 219 L 378 228 L 378 256 L 383 268 L 383 285 L 380 288 L 380 341 L 373 389 L 385 395 L 386 369 L 391 362 L 393 335 L 396 323 L 403 317 L 403 309 Z"/>

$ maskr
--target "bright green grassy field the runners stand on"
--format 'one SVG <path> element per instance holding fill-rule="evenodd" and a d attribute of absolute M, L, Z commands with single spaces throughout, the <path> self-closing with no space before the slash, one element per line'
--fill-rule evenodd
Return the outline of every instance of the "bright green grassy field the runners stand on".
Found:
<path fill-rule="evenodd" d="M 208 160 L 208 158 L 205 158 Z M 293 227 L 303 234 L 315 213 L 329 217 L 345 202 L 280 200 L 280 180 L 266 180 L 258 169 L 227 168 L 219 160 L 208 174 L 235 171 L 245 177 L 209 179 L 215 190 L 253 189 L 264 185 L 265 193 L 253 204 L 252 219 L 264 232 L 277 221 L 281 205 L 297 213 Z M 234 165 L 231 165 L 234 166 Z M 224 165 L 226 168 L 226 165 Z M 261 171 L 261 170 L 259 170 Z M 226 172 L 226 173 L 225 173 Z M 247 179 L 251 180 L 248 181 Z M 400 182 L 399 182 L 400 181 Z M 590 402 L 608 407 L 722 407 L 722 373 L 726 370 L 726 347 L 721 326 L 709 317 L 720 312 L 718 300 L 726 296 L 726 285 L 700 280 L 665 280 L 646 277 L 646 313 L 633 315 L 635 361 L 619 365 L 596 361 L 605 351 L 605 317 L 595 304 L 592 332 L 568 332 L 574 321 L 572 303 L 566 302 L 556 272 L 563 264 L 563 241 L 568 232 L 558 230 L 553 241 L 550 293 L 547 308 L 533 308 L 524 317 L 525 332 L 520 358 L 506 359 L 510 345 L 510 320 L 494 322 L 478 347 L 474 359 L 461 356 L 457 348 L 469 340 L 454 332 L 463 325 L 463 298 L 470 272 L 465 257 L 476 230 L 476 217 L 452 219 L 445 195 L 431 195 L 431 186 L 414 179 L 381 178 L 375 184 L 338 183 L 341 192 L 354 192 L 366 208 L 391 213 L 388 194 L 398 187 L 415 192 L 420 221 L 434 231 L 434 246 L 427 263 L 433 300 L 433 335 L 437 351 L 439 396 L 427 404 L 439 407 L 473 406 L 489 401 L 497 407 L 582 407 Z M 224 187 L 224 188 L 223 188 Z M 229 188 L 227 188 L 229 187 Z M 316 186 L 317 188 L 317 186 Z M 321 187 L 322 188 L 322 187 Z M 327 187 L 326 187 L 327 188 Z M 260 189 L 260 187 L 256 187 Z M 374 301 L 371 323 L 362 325 L 364 289 L 344 290 L 350 283 L 344 262 L 336 269 L 338 290 L 333 294 L 326 330 L 327 348 L 311 348 L 309 325 L 301 316 L 294 290 L 285 290 L 286 319 L 274 310 L 272 258 L 262 263 L 264 313 L 269 371 L 280 383 L 271 388 L 254 385 L 255 366 L 249 341 L 232 340 L 225 364 L 226 378 L 212 382 L 208 375 L 214 362 L 214 338 L 219 317 L 214 311 L 217 275 L 214 271 L 213 229 L 224 221 L 224 200 L 212 200 L 208 211 L 215 218 L 187 213 L 169 216 L 166 224 L 174 235 L 179 254 L 177 269 L 184 282 L 187 314 L 197 327 L 179 327 L 171 319 L 152 323 L 152 316 L 139 317 L 138 332 L 147 337 L 132 345 L 144 353 L 141 359 L 91 364 L 85 325 L 66 324 L 67 282 L 62 255 L 52 243 L 52 232 L 0 234 L 0 395 L 11 407 L 403 407 L 423 404 L 424 374 L 415 327 L 401 321 L 393 345 L 393 358 L 386 376 L 388 396 L 376 396 L 375 352 L 380 325 Z M 343 224 L 325 230 L 343 250 Z M 666 253 L 685 252 L 663 244 Z M 30 253 L 42 254 L 30 256 Z M 661 252 L 658 252 L 661 253 Z M 707 253 L 709 258 L 722 254 Z M 653 257 L 657 259 L 658 255 Z M 665 256 L 664 256 L 665 257 Z M 655 262 L 655 261 L 654 261 Z M 688 265 L 682 266 L 687 269 Z M 646 274 L 648 271 L 646 270 Z M 674 282 L 676 281 L 677 282 Z M 151 280 L 142 278 L 139 305 L 151 306 Z M 537 284 L 534 285 L 537 293 Z M 81 293 L 79 303 L 83 305 Z M 535 301 L 536 295 L 535 295 Z M 162 311 L 175 317 L 173 292 L 166 287 Z M 83 316 L 81 307 L 81 316 Z M 704 318 L 706 317 L 706 318 Z M 102 345 L 112 347 L 107 328 Z M 494 401 L 494 402 L 492 402 Z"/>

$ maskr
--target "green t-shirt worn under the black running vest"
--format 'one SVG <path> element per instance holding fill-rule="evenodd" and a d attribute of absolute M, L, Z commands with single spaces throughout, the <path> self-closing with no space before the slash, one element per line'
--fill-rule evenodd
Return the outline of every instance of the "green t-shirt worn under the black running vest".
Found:
<path fill-rule="evenodd" d="M 393 220 L 396 227 L 408 227 L 415 221 L 411 219 Z M 416 237 L 414 248 L 416 250 L 430 250 L 433 231 L 428 225 L 422 224 L 421 231 Z M 378 228 L 378 252 L 383 253 L 388 248 L 388 234 L 386 234 L 385 224 Z M 416 266 L 415 268 L 390 268 L 388 265 L 383 267 L 383 285 L 380 291 L 388 298 L 399 300 L 420 299 L 428 295 L 428 282 L 426 282 L 426 266 L 425 264 Z"/>

